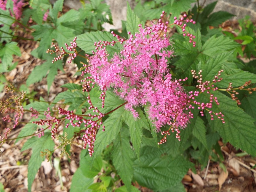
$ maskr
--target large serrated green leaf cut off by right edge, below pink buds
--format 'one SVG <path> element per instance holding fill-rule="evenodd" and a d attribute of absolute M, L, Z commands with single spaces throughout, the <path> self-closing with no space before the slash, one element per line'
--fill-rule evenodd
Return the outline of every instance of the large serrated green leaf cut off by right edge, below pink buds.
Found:
<path fill-rule="evenodd" d="M 210 120 L 211 117 L 207 113 L 210 127 L 216 130 L 225 142 L 256 156 L 255 120 L 237 107 L 236 101 L 218 91 L 214 92 L 214 96 L 218 98 L 220 105 L 213 103 L 212 111 L 220 111 L 224 115 L 225 123 L 216 117 L 213 121 Z"/>

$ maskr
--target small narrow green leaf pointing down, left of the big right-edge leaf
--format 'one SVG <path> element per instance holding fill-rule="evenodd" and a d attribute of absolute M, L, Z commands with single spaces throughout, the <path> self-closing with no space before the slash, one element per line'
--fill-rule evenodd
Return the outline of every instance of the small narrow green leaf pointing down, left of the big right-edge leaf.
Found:
<path fill-rule="evenodd" d="M 196 118 L 196 124 L 192 134 L 204 145 L 205 148 L 208 148 L 206 142 L 206 127 L 204 125 L 204 121 L 201 118 Z"/>

